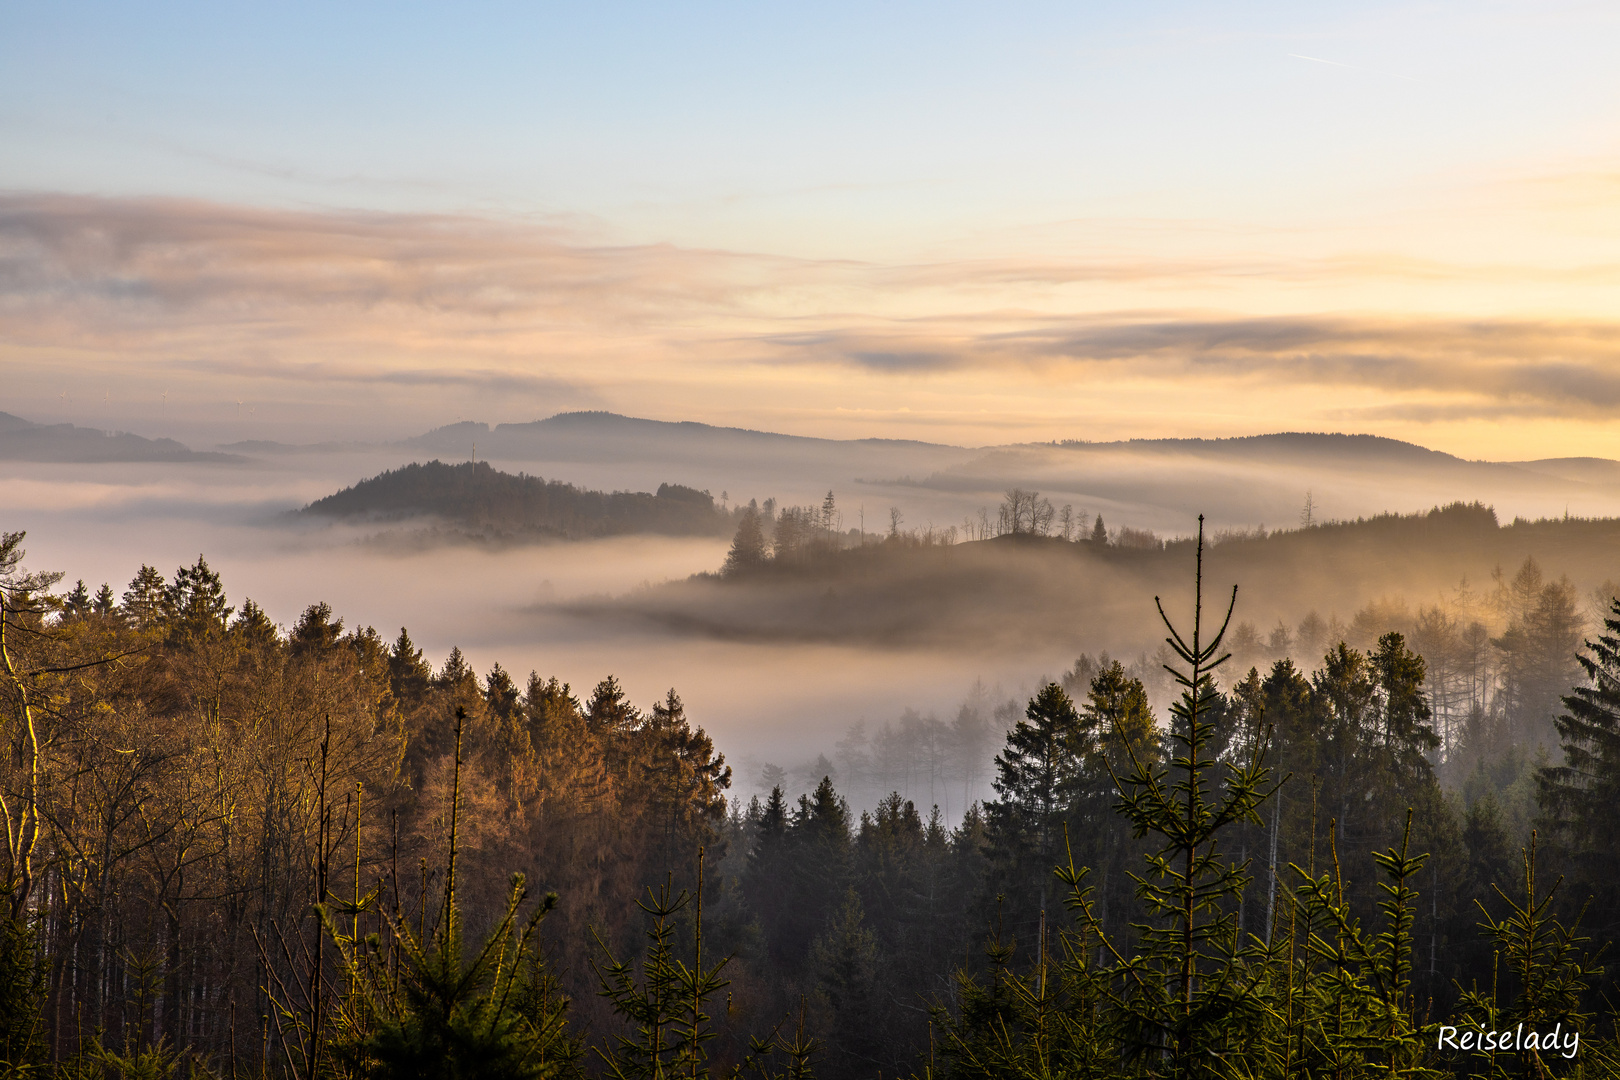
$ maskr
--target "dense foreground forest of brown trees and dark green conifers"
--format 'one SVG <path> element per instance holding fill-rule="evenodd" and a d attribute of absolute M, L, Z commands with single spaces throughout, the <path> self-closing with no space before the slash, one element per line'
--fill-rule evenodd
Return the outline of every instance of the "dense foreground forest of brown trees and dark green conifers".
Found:
<path fill-rule="evenodd" d="M 834 547 L 812 513 L 807 562 Z M 721 585 L 766 572 L 758 517 Z M 1129 549 L 1184 578 L 1163 651 L 985 703 L 993 795 L 946 818 L 855 811 L 834 769 L 740 798 L 674 688 L 434 669 L 322 602 L 282 628 L 202 557 L 62 588 L 23 539 L 18 1075 L 1620 1072 L 1620 601 L 1584 619 L 1534 562 L 1440 678 L 1377 609 L 1243 631 L 1212 572 L 1243 539 Z"/>

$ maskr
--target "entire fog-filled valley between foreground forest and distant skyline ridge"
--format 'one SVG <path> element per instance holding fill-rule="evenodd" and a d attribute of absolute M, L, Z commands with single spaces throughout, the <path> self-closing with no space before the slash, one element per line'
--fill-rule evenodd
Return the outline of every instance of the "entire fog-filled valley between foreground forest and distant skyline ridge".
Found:
<path fill-rule="evenodd" d="M 284 627 L 326 601 L 350 628 L 376 627 L 390 641 L 410 628 L 436 665 L 460 648 L 478 672 L 496 662 L 518 678 L 536 670 L 582 695 L 612 674 L 640 704 L 674 687 L 737 766 L 744 795 L 776 776 L 771 766 L 800 790 L 821 767 L 859 772 L 868 767 L 859 761 L 876 755 L 872 740 L 893 742 L 902 729 L 914 740 L 944 738 L 964 711 L 987 730 L 1004 727 L 1017 714 L 1008 703 L 1025 701 L 1082 653 L 1110 653 L 1153 687 L 1162 636 L 1153 596 L 1163 593 L 1173 612 L 1184 606 L 1191 549 L 1173 544 L 1147 562 L 1145 549 L 1085 562 L 1050 538 L 1045 546 L 969 544 L 996 531 L 1013 487 L 1050 502 L 1045 531 L 1055 536 L 1064 521 L 1074 536 L 1089 533 L 1100 513 L 1116 538 L 1126 529 L 1129 542 L 1157 544 L 1189 536 L 1205 513 L 1210 538 L 1223 541 L 1207 562 L 1210 581 L 1243 585 L 1236 622 L 1262 640 L 1277 627 L 1298 636 L 1312 614 L 1343 628 L 1369 604 L 1406 604 L 1413 617 L 1455 604 L 1464 578 L 1484 594 L 1495 567 L 1511 573 L 1524 555 L 1552 578 L 1570 575 L 1581 596 L 1620 575 L 1605 572 L 1591 544 L 1558 554 L 1557 544 L 1541 552 L 1533 539 L 1439 555 L 1403 555 L 1392 541 L 1361 554 L 1298 549 L 1286 560 L 1246 547 L 1260 529 L 1296 529 L 1307 492 L 1315 523 L 1458 500 L 1494 507 L 1503 526 L 1520 517 L 1620 513 L 1620 466 L 1609 461 L 1474 463 L 1374 439 L 969 450 L 577 415 L 492 431 L 460 424 L 402 444 L 201 449 L 215 457 L 0 461 L 3 525 L 28 531 L 29 565 L 62 570 L 68 585 L 107 581 L 120 593 L 143 563 L 172 576 L 202 554 L 232 602 L 251 597 Z M 410 461 L 473 453 L 501 471 L 578 487 L 684 484 L 732 512 L 768 499 L 820 512 L 831 492 L 839 534 L 896 533 L 933 546 L 854 576 L 838 570 L 737 585 L 692 580 L 721 568 L 729 526 L 723 536 L 489 541 L 444 520 L 292 513 Z M 983 756 L 978 764 L 902 763 L 885 776 L 901 777 L 897 785 L 920 801 L 961 813 L 990 795 L 987 764 L 1000 733 L 972 751 Z M 844 779 L 859 787 L 859 777 Z M 873 793 L 857 793 L 859 801 L 873 801 L 888 782 L 868 780 Z"/>

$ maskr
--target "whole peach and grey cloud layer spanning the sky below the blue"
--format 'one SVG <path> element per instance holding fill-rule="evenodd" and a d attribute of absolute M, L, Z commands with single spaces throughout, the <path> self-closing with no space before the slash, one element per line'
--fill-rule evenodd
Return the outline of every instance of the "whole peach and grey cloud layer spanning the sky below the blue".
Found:
<path fill-rule="evenodd" d="M 885 266 L 609 244 L 478 217 L 13 194 L 0 198 L 0 356 L 13 369 L 144 364 L 335 395 L 371 387 L 423 408 L 454 393 L 659 415 L 792 400 L 855 416 L 909 408 L 897 395 L 927 385 L 930 415 L 966 415 L 987 379 L 1053 403 L 1129 390 L 1137 410 L 1160 403 L 1155 387 L 1200 387 L 1230 410 L 1293 393 L 1298 416 L 1374 426 L 1605 419 L 1620 406 L 1615 321 L 1239 303 L 1262 295 L 1254 283 L 1332 295 L 1469 274 L 1589 287 L 1620 269 L 1264 251 Z"/>

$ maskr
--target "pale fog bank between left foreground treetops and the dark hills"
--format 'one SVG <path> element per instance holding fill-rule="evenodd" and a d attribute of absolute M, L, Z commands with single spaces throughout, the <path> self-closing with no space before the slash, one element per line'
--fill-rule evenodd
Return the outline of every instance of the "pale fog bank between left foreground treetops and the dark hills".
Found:
<path fill-rule="evenodd" d="M 674 687 L 748 789 L 753 763 L 792 766 L 831 753 L 860 717 L 878 722 L 907 708 L 954 716 L 975 678 L 1021 695 L 1072 661 L 1061 643 L 1048 656 L 964 656 L 690 640 L 609 630 L 554 607 L 714 570 L 727 539 L 421 547 L 407 529 L 311 528 L 280 517 L 397 463 L 397 455 L 254 466 L 8 461 L 0 528 L 28 529 L 28 565 L 63 570 L 68 585 L 109 581 L 122 594 L 141 563 L 173 575 L 201 552 L 233 604 L 253 597 L 282 625 L 326 601 L 348 627 L 373 625 L 389 640 L 407 627 L 436 665 L 460 646 L 480 672 L 497 661 L 517 675 L 535 669 L 582 696 L 612 674 L 643 708 Z"/>

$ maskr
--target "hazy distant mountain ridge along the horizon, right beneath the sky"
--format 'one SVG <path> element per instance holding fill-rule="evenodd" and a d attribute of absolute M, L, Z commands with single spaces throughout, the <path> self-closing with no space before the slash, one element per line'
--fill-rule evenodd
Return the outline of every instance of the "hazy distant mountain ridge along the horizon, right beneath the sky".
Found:
<path fill-rule="evenodd" d="M 604 491 L 642 489 L 669 474 L 716 492 L 781 494 L 789 502 L 820 502 L 836 489 L 852 512 L 859 513 L 862 500 L 876 502 L 880 513 L 897 502 L 919 521 L 962 520 L 995 505 L 1011 487 L 1037 489 L 1055 505 L 1102 512 L 1110 523 L 1160 531 L 1174 531 L 1204 512 L 1226 525 L 1291 520 L 1307 491 L 1327 517 L 1409 512 L 1455 499 L 1484 500 L 1510 515 L 1620 513 L 1620 461 L 1477 461 L 1400 439 L 1343 432 L 962 447 L 567 411 L 526 423 L 462 421 L 395 442 L 293 445 L 254 439 L 209 453 L 172 439 L 0 415 L 0 460 L 222 463 L 347 453 L 510 466 L 533 461 L 531 471 Z"/>

